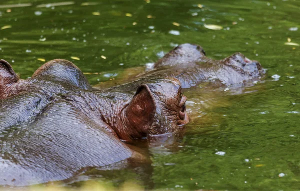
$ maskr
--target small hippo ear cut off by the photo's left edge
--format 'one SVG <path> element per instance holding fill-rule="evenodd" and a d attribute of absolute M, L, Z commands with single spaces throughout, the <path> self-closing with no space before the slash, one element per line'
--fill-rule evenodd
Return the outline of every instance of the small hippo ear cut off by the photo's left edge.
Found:
<path fill-rule="evenodd" d="M 11 65 L 4 59 L 0 59 L 0 85 L 15 83 L 18 75 L 13 71 Z"/>

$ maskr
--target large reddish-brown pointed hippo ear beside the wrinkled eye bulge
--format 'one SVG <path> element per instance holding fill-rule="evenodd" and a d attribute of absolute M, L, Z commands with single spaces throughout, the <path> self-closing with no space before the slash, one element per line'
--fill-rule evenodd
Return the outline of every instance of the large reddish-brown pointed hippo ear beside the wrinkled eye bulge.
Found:
<path fill-rule="evenodd" d="M 147 85 L 140 85 L 123 112 L 126 132 L 117 134 L 123 140 L 146 137 L 154 121 L 156 104 Z"/>

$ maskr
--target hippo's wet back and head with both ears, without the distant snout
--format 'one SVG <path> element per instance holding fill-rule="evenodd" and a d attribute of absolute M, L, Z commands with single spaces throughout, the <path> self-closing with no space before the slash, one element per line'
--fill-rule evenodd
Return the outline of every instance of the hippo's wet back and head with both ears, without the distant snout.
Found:
<path fill-rule="evenodd" d="M 0 60 L 0 185 L 64 180 L 90 167 L 147 158 L 132 143 L 177 133 L 186 97 L 172 77 L 95 90 L 73 63 L 55 59 L 20 79 Z"/>

